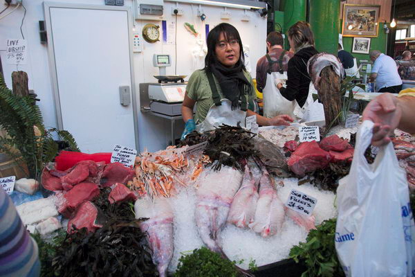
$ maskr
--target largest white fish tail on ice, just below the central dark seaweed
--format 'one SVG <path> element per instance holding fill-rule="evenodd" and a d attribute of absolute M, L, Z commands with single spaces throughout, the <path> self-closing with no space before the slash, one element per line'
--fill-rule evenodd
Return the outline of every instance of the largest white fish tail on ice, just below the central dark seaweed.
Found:
<path fill-rule="evenodd" d="M 212 251 L 223 253 L 217 238 L 228 218 L 230 204 L 241 181 L 241 172 L 228 166 L 223 166 L 219 171 L 205 170 L 199 177 L 196 225 L 201 239 Z"/>

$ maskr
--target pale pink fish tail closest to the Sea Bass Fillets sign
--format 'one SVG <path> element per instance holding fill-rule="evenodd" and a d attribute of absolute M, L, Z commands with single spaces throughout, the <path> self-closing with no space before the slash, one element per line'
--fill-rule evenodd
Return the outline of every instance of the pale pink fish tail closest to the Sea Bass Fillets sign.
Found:
<path fill-rule="evenodd" d="M 265 168 L 263 168 L 263 171 L 259 183 L 259 199 L 255 219 L 248 226 L 252 231 L 260 233 L 265 238 L 281 231 L 285 212 L 284 204 L 279 199 L 277 191 L 270 184 L 268 172 Z"/>

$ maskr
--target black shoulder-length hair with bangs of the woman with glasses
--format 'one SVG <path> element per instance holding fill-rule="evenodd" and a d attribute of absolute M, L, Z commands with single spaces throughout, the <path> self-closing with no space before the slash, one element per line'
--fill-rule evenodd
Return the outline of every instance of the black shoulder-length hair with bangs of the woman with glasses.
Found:
<path fill-rule="evenodd" d="M 241 50 L 239 53 L 239 61 L 235 65 L 239 66 L 239 62 L 241 62 L 242 69 L 246 70 L 245 65 L 244 65 L 245 59 L 243 55 L 241 36 L 239 35 L 237 28 L 224 22 L 215 26 L 212 30 L 210 30 L 208 34 L 208 39 L 206 39 L 206 44 L 208 45 L 208 54 L 205 57 L 205 69 L 209 70 L 210 65 L 214 64 L 214 62 L 217 62 L 215 50 L 216 50 L 216 44 L 219 42 L 219 37 L 221 36 L 221 33 L 223 33 L 223 36 L 225 36 L 225 39 L 228 42 L 231 39 L 237 39 L 239 43 L 239 48 Z"/>

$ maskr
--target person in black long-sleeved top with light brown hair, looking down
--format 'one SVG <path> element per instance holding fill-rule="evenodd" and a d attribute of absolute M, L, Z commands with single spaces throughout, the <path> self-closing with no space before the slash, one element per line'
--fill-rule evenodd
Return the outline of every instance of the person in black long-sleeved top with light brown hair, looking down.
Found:
<path fill-rule="evenodd" d="M 307 62 L 318 51 L 314 48 L 314 35 L 310 24 L 298 21 L 288 29 L 288 42 L 295 54 L 288 62 L 286 87 L 282 82 L 277 82 L 277 89 L 287 100 L 297 100 L 298 105 L 303 107 L 308 96 L 310 75 L 307 72 Z"/>

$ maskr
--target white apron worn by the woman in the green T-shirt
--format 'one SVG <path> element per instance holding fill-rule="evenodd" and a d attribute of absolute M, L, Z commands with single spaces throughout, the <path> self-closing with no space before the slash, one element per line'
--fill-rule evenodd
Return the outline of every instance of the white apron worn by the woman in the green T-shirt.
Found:
<path fill-rule="evenodd" d="M 205 120 L 202 123 L 196 125 L 196 131 L 203 133 L 216 129 L 222 124 L 245 127 L 246 111 L 241 109 L 234 109 L 232 111 L 232 102 L 228 99 L 221 99 L 221 105 L 212 105 L 210 107 Z"/>

